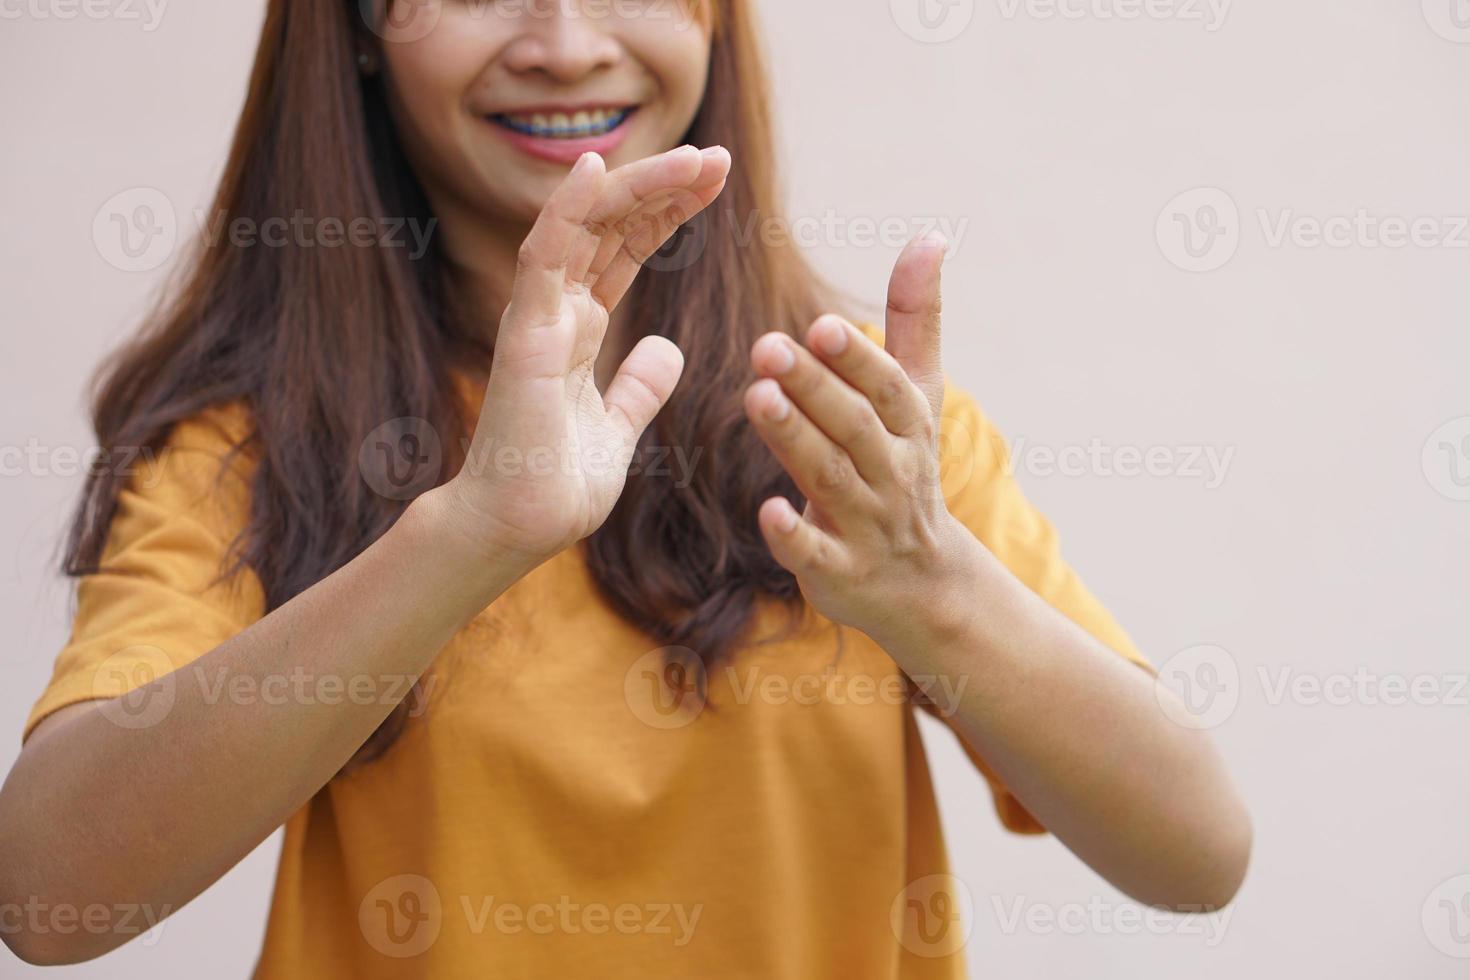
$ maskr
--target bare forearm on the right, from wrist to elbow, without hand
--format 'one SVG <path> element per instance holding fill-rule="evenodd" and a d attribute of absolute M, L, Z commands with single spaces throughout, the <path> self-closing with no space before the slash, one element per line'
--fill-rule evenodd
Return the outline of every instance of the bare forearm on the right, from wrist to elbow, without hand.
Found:
<path fill-rule="evenodd" d="M 911 673 L 969 677 L 954 727 L 1114 886 L 1189 911 L 1229 902 L 1251 827 L 1210 739 L 1166 717 L 1150 673 L 970 542 L 954 586 L 889 652 Z"/>

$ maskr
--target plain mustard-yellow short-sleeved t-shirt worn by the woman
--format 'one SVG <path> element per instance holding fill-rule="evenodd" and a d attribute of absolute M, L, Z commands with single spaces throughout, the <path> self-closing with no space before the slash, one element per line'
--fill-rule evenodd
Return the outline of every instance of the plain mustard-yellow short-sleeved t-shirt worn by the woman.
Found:
<path fill-rule="evenodd" d="M 178 426 L 122 494 L 26 732 L 119 693 L 119 676 L 146 680 L 129 658 L 185 667 L 263 614 L 251 573 L 210 585 L 245 519 L 248 461 L 215 482 L 244 422 L 222 407 Z M 953 386 L 944 433 L 951 511 L 1144 663 Z M 761 636 L 785 621 L 760 616 Z M 256 976 L 963 977 L 961 886 L 892 660 L 851 629 L 839 649 L 813 617 L 710 671 L 701 701 L 656 646 L 598 598 L 576 550 L 517 582 L 444 648 L 390 751 L 288 820 Z M 1001 821 L 1039 832 L 970 757 Z"/>

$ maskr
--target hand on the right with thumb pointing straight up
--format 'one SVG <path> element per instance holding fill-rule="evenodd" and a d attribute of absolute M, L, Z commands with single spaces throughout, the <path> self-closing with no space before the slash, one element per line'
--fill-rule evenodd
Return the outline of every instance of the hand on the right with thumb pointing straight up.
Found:
<path fill-rule="evenodd" d="M 879 638 L 969 532 L 939 485 L 939 237 L 908 244 L 888 285 L 885 347 L 838 316 L 811 325 L 806 347 L 761 336 L 745 392 L 756 430 L 807 498 L 773 497 L 760 529 L 823 616 Z"/>

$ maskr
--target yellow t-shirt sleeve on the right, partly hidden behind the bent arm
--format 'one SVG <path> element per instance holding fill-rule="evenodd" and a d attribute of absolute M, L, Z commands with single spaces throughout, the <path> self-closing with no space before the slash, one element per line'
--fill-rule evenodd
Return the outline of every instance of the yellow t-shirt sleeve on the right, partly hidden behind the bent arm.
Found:
<path fill-rule="evenodd" d="M 1108 649 L 1150 669 L 1123 627 L 1063 560 L 1055 527 L 1020 491 L 1001 433 L 975 398 L 953 383 L 945 385 L 939 451 L 950 513 L 1041 598 Z M 1044 833 L 980 754 L 963 736 L 960 743 L 989 783 L 1001 823 L 1017 833 Z"/>

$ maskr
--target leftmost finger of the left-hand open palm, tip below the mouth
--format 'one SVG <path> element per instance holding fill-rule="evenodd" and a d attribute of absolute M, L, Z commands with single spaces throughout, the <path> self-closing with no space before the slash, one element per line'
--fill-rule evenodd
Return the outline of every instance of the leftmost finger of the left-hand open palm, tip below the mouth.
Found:
<path fill-rule="evenodd" d="M 562 307 L 572 253 L 591 241 L 585 222 L 607 176 L 603 157 L 584 153 L 537 216 L 516 257 L 510 303 L 522 322 L 551 320 Z"/>

